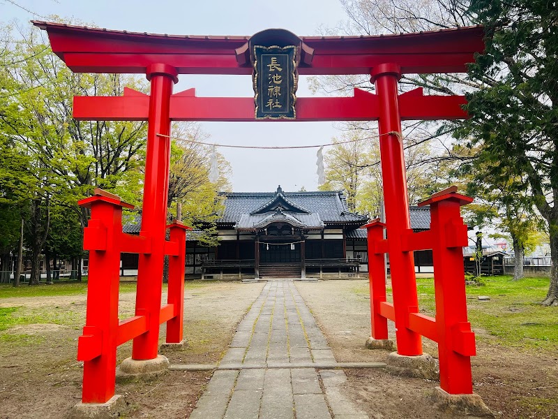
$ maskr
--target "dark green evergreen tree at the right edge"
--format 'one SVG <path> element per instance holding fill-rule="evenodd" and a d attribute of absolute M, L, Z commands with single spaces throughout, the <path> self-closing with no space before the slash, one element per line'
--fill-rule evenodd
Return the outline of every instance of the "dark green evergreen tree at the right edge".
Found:
<path fill-rule="evenodd" d="M 460 132 L 479 147 L 485 182 L 517 191 L 548 223 L 552 269 L 543 301 L 558 306 L 558 8 L 546 0 L 472 0 L 469 12 L 485 25 L 485 53 L 469 67 L 472 116 Z"/>

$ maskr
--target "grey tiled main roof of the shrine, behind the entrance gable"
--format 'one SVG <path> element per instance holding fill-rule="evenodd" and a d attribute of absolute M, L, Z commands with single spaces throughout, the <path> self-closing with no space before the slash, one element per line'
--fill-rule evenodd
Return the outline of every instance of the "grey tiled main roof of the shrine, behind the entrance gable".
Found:
<path fill-rule="evenodd" d="M 349 212 L 342 191 L 280 192 L 282 196 L 310 214 L 317 214 L 324 223 L 363 224 L 367 216 Z M 277 192 L 234 192 L 223 193 L 225 211 L 218 220 L 220 224 L 236 224 L 243 214 L 258 212 L 276 199 Z M 297 218 L 298 215 L 296 215 Z"/>

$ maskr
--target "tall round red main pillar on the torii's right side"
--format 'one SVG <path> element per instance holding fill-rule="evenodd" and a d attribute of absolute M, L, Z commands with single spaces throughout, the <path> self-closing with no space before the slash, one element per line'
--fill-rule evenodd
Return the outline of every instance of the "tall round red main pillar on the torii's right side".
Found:
<path fill-rule="evenodd" d="M 381 64 L 371 75 L 380 101 L 378 126 L 386 230 L 388 237 L 400 237 L 411 228 L 398 103 L 401 69 L 397 64 Z M 406 322 L 408 307 L 418 306 L 413 253 L 403 251 L 398 240 L 389 240 L 388 245 L 397 352 L 405 356 L 422 355 L 421 336 L 410 330 Z"/>

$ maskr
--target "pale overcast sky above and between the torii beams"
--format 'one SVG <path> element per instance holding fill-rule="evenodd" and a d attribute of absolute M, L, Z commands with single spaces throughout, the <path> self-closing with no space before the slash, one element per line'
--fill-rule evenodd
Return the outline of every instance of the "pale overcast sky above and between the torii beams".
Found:
<path fill-rule="evenodd" d="M 282 28 L 299 36 L 319 34 L 346 19 L 339 0 L 0 0 L 0 20 L 21 23 L 49 15 L 128 31 L 184 35 L 246 35 Z M 253 96 L 249 75 L 181 75 L 174 91 L 196 88 L 197 96 Z M 306 77 L 297 96 L 311 96 Z M 339 135 L 331 122 L 204 122 L 210 141 L 232 145 L 315 145 Z M 317 188 L 316 149 L 226 149 L 234 191 Z"/>

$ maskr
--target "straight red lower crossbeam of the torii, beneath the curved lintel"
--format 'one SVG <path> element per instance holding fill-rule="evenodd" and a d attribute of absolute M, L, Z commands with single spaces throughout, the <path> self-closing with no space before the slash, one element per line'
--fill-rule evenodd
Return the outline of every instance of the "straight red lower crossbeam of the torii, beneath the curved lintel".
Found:
<path fill-rule="evenodd" d="M 139 93 L 139 92 L 138 92 Z M 410 93 L 410 92 L 409 92 Z M 464 96 L 402 94 L 400 117 L 407 119 L 465 119 Z M 80 120 L 142 121 L 149 115 L 149 96 L 75 96 L 74 117 Z M 379 117 L 375 94 L 354 89 L 354 96 L 297 98 L 296 121 L 370 121 Z M 173 121 L 255 121 L 254 98 L 203 98 L 193 89 L 170 98 Z"/>

